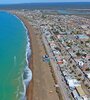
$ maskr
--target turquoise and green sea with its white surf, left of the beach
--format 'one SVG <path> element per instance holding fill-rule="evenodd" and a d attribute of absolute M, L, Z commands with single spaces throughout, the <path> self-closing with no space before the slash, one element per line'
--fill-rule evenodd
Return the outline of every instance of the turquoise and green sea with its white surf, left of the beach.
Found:
<path fill-rule="evenodd" d="M 0 100 L 25 100 L 32 78 L 28 68 L 31 55 L 28 30 L 23 22 L 0 12 Z"/>

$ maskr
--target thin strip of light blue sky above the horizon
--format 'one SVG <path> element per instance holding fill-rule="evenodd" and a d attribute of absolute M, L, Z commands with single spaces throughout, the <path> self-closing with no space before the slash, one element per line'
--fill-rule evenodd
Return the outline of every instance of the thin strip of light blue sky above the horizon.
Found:
<path fill-rule="evenodd" d="M 90 2 L 90 0 L 0 0 L 0 4 L 33 3 L 33 2 Z"/>

